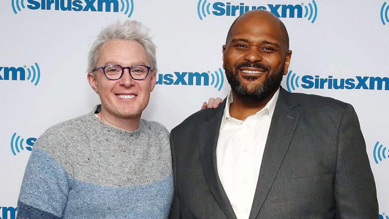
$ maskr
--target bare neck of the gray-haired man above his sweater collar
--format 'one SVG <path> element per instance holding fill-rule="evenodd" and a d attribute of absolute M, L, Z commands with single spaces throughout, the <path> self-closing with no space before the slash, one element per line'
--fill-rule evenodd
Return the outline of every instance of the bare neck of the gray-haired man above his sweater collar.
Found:
<path fill-rule="evenodd" d="M 103 123 L 125 131 L 138 130 L 140 124 L 140 115 L 131 118 L 121 118 L 107 113 L 106 111 L 107 110 L 103 110 L 102 107 L 101 112 L 97 114 L 97 117 Z"/>

